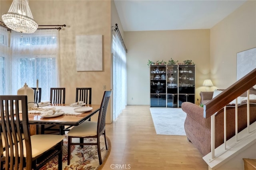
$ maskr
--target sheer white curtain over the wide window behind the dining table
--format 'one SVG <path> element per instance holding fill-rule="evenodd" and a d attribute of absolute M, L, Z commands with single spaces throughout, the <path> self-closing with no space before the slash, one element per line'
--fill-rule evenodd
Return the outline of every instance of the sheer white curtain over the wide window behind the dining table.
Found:
<path fill-rule="evenodd" d="M 50 87 L 58 87 L 59 31 L 37 30 L 32 34 L 11 33 L 12 94 L 24 86 L 42 88 L 42 100 L 49 100 Z"/>

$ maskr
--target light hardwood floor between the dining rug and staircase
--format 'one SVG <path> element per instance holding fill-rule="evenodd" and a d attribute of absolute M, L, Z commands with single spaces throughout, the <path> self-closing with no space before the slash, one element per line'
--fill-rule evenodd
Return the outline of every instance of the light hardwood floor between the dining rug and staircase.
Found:
<path fill-rule="evenodd" d="M 156 135 L 149 106 L 127 106 L 106 136 L 112 149 L 102 170 L 208 170 L 186 136 Z"/>

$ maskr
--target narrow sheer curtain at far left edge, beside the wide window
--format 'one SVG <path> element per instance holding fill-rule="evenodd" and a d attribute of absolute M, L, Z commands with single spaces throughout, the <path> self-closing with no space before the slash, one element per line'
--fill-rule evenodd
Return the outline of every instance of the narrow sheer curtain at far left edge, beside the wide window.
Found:
<path fill-rule="evenodd" d="M 0 26 L 0 95 L 10 94 L 10 31 Z"/>

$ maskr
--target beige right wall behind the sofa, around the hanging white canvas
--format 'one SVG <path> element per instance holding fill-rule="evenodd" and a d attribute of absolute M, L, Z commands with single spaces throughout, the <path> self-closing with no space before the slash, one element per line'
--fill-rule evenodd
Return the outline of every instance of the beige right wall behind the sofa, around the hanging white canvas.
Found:
<path fill-rule="evenodd" d="M 211 79 L 215 88 L 236 82 L 236 53 L 256 47 L 256 1 L 247 1 L 210 29 Z M 239 69 L 239 68 L 238 68 Z"/>

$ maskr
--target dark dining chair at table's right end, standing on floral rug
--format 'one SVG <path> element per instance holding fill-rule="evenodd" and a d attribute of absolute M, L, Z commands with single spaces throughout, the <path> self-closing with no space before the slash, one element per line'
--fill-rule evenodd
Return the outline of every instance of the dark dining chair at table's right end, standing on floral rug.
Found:
<path fill-rule="evenodd" d="M 100 165 L 102 164 L 102 158 L 100 153 L 100 136 L 104 135 L 106 150 L 108 150 L 106 143 L 106 132 L 105 132 L 105 123 L 106 123 L 106 113 L 108 109 L 108 103 L 110 100 L 112 90 L 105 91 L 102 102 L 100 104 L 100 110 L 98 115 L 98 121 L 84 121 L 78 126 L 74 126 L 68 132 L 68 165 L 70 164 L 71 156 L 71 146 L 72 145 L 97 145 L 98 157 Z M 80 143 L 72 143 L 73 138 L 80 138 Z M 84 143 L 84 138 L 97 138 L 96 143 Z"/>

